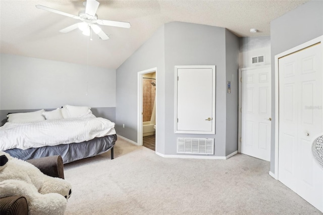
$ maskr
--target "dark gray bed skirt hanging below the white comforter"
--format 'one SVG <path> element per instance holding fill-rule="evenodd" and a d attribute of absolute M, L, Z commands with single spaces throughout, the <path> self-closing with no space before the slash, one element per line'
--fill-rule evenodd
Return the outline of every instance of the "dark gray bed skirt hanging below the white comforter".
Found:
<path fill-rule="evenodd" d="M 96 137 L 89 141 L 81 143 L 60 144 L 54 146 L 43 146 L 40 148 L 19 149 L 13 148 L 6 150 L 12 157 L 22 160 L 40 158 L 52 155 L 61 155 L 63 163 L 71 163 L 75 160 L 92 157 L 111 150 L 111 159 L 113 159 L 113 147 L 116 144 L 117 135 Z"/>

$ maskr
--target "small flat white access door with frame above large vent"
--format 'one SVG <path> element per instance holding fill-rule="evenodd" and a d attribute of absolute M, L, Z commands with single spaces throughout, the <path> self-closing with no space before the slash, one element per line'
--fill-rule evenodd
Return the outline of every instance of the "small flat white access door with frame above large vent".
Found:
<path fill-rule="evenodd" d="M 176 67 L 176 133 L 214 134 L 215 66 Z"/>

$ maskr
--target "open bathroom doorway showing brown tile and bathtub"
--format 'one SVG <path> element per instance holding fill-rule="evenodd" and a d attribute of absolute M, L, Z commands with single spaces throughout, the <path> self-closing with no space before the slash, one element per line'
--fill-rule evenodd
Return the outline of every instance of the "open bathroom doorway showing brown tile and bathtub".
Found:
<path fill-rule="evenodd" d="M 138 72 L 138 145 L 156 149 L 156 68 Z"/>

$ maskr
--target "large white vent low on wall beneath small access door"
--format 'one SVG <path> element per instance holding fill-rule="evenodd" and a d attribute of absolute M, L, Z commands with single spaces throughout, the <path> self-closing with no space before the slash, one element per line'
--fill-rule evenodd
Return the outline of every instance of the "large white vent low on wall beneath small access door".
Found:
<path fill-rule="evenodd" d="M 179 137 L 177 139 L 177 153 L 214 154 L 214 139 Z"/>

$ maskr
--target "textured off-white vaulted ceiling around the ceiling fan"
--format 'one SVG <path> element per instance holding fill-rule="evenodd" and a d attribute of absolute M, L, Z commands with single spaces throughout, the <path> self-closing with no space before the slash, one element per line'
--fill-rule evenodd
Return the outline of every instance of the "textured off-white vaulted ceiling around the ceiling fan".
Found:
<path fill-rule="evenodd" d="M 130 22 L 131 28 L 102 26 L 110 36 L 90 41 L 76 29 L 59 30 L 78 20 L 37 9 L 43 5 L 69 14 L 83 1 L 0 0 L 0 51 L 33 58 L 118 68 L 161 25 L 181 21 L 224 27 L 239 37 L 270 35 L 270 22 L 308 2 L 300 1 L 103 1 L 99 19 Z M 256 28 L 257 33 L 250 33 Z"/>

